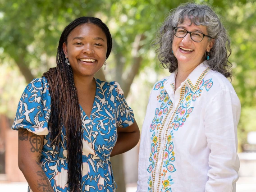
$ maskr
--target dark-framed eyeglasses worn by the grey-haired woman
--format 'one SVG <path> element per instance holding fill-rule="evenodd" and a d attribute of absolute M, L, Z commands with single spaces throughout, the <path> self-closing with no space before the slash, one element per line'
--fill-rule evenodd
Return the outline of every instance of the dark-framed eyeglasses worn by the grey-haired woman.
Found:
<path fill-rule="evenodd" d="M 193 41 L 196 42 L 201 42 L 203 40 L 203 38 L 206 37 L 210 37 L 208 35 L 205 35 L 201 32 L 188 32 L 186 29 L 183 29 L 181 27 L 174 27 L 174 35 L 178 38 L 183 38 L 187 35 L 187 33 L 190 34 L 190 37 Z M 212 37 L 210 37 L 211 39 L 214 39 Z"/>

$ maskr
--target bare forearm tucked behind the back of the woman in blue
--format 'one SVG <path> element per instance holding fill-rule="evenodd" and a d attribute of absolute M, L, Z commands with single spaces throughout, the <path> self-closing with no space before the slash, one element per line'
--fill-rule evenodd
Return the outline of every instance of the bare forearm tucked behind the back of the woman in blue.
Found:
<path fill-rule="evenodd" d="M 119 155 L 131 150 L 137 145 L 140 139 L 140 132 L 118 133 L 117 142 L 110 156 Z"/>

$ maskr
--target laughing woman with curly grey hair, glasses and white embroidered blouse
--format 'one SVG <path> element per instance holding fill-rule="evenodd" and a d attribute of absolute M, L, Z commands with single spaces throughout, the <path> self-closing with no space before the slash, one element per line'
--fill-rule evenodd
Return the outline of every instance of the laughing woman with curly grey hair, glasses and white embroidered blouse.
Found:
<path fill-rule="evenodd" d="M 156 44 L 171 74 L 151 91 L 137 192 L 234 192 L 241 107 L 227 79 L 223 24 L 207 5 L 183 4 L 170 12 Z"/>

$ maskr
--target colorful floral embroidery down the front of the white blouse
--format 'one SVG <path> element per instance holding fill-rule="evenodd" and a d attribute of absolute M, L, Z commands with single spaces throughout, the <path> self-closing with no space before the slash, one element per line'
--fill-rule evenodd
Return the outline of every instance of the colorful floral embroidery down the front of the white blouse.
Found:
<path fill-rule="evenodd" d="M 213 85 L 211 79 L 204 81 L 203 78 L 209 69 L 206 69 L 201 76 L 198 78 L 197 83 L 195 86 L 188 80 L 188 84 L 190 87 L 184 87 L 181 90 L 181 96 L 179 105 L 175 109 L 172 118 L 168 124 L 168 129 L 165 132 L 165 146 L 164 151 L 162 154 L 162 162 L 160 166 L 160 178 L 158 180 L 157 191 L 161 192 L 171 192 L 171 185 L 174 184 L 173 179 L 168 174 L 173 173 L 176 171 L 173 162 L 175 161 L 175 152 L 174 152 L 174 143 L 173 143 L 173 131 L 178 130 L 178 128 L 182 127 L 186 119 L 192 113 L 194 107 L 192 103 L 197 100 L 198 97 L 201 96 L 203 89 L 205 88 L 206 91 L 209 91 Z M 159 88 L 163 88 L 165 80 L 163 82 L 156 83 L 154 90 L 158 90 Z M 174 88 L 174 84 L 171 85 Z M 151 173 L 151 176 L 148 180 L 148 192 L 154 191 L 155 185 L 155 165 L 158 161 L 158 153 L 160 153 L 160 137 L 161 132 L 163 129 L 163 125 L 165 124 L 166 117 L 168 116 L 170 109 L 172 108 L 172 101 L 169 98 L 169 95 L 162 89 L 160 91 L 160 95 L 157 96 L 157 100 L 161 103 L 160 108 L 156 108 L 155 110 L 155 117 L 151 123 L 150 131 L 153 132 L 151 136 L 151 153 L 149 157 L 150 165 L 148 166 L 147 171 Z M 171 105 L 171 107 L 170 107 Z M 165 116 L 165 117 L 164 117 Z M 165 119 L 164 119 L 165 118 Z M 163 120 L 164 119 L 164 120 Z M 163 168 L 163 169 L 162 169 Z M 161 184 L 161 188 L 160 187 Z"/>

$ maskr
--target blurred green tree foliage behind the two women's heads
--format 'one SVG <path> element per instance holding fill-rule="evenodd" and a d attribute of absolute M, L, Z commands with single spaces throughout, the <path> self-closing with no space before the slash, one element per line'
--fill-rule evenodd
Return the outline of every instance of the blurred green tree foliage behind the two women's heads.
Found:
<path fill-rule="evenodd" d="M 186 2 L 186 1 L 183 1 Z M 242 105 L 256 105 L 255 58 L 256 2 L 253 0 L 196 0 L 208 3 L 223 15 L 232 37 L 235 79 L 233 85 Z M 0 58 L 11 59 L 30 82 L 49 67 L 60 34 L 73 19 L 96 16 L 110 27 L 114 46 L 109 74 L 102 78 L 115 79 L 126 95 L 136 74 L 155 62 L 150 48 L 159 23 L 179 0 L 1 0 L 0 1 Z M 3 61 L 2 61 L 3 62 Z M 1 63 L 2 63 L 1 62 Z M 155 65 L 155 70 L 159 70 Z M 114 74 L 114 75 L 113 75 Z"/>

